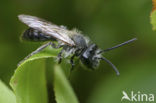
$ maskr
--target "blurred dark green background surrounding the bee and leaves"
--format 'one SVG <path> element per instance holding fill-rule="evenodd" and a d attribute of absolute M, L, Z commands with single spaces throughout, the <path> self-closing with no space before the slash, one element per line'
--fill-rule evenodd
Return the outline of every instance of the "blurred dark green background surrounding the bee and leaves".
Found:
<path fill-rule="evenodd" d="M 120 76 L 105 62 L 97 71 L 73 71 L 71 84 L 81 103 L 120 103 L 123 90 L 156 95 L 156 32 L 150 24 L 151 10 L 152 0 L 1 0 L 0 79 L 9 84 L 17 63 L 40 45 L 19 39 L 27 27 L 17 15 L 28 14 L 78 28 L 102 49 L 138 38 L 104 54 Z"/>

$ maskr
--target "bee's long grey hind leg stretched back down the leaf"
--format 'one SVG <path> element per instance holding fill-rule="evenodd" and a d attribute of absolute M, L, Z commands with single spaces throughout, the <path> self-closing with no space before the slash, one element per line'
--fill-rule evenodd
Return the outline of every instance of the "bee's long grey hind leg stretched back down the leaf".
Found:
<path fill-rule="evenodd" d="M 20 62 L 18 63 L 17 66 L 19 66 L 21 63 L 23 63 L 23 62 L 24 62 L 25 60 L 27 60 L 29 57 L 31 57 L 31 56 L 33 56 L 33 55 L 39 53 L 40 51 L 42 51 L 44 48 L 46 48 L 47 46 L 49 46 L 49 45 L 51 45 L 51 44 L 52 44 L 52 42 L 48 42 L 48 43 L 46 43 L 46 44 L 40 46 L 40 47 L 37 48 L 35 51 L 33 51 L 32 53 L 30 53 L 28 56 L 26 56 L 22 61 L 20 61 Z"/>

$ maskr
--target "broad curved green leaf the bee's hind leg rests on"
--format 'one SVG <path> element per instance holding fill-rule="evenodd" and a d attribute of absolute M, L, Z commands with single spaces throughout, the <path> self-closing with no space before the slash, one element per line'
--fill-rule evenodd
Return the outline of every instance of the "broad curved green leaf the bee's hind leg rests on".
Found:
<path fill-rule="evenodd" d="M 58 50 L 46 48 L 17 67 L 10 85 L 17 103 L 47 103 L 45 58 L 56 56 Z"/>

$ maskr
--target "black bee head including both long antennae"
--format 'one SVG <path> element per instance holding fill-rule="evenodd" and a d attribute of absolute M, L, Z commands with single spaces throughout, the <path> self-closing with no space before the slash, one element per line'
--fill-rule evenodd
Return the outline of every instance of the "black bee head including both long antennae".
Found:
<path fill-rule="evenodd" d="M 107 48 L 105 50 L 100 50 L 100 49 L 98 49 L 96 44 L 91 44 L 82 53 L 82 55 L 80 57 L 81 61 L 87 67 L 95 69 L 95 67 L 97 67 L 99 65 L 100 60 L 103 60 L 103 61 L 107 62 L 114 69 L 114 71 L 116 72 L 117 75 L 119 75 L 120 73 L 119 73 L 118 69 L 116 68 L 116 66 L 114 64 L 112 64 L 111 61 L 109 61 L 108 59 L 103 57 L 101 54 L 103 52 L 108 52 L 110 50 L 116 49 L 118 47 L 124 46 L 124 45 L 129 44 L 129 43 L 132 43 L 135 40 L 137 40 L 137 38 L 130 39 L 126 42 L 123 42 L 123 43 L 118 44 L 118 45 L 111 47 L 111 48 Z"/>

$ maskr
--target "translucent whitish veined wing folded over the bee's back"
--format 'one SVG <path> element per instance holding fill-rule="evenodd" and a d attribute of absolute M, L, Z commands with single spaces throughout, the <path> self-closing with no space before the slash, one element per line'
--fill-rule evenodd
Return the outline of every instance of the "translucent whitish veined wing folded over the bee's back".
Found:
<path fill-rule="evenodd" d="M 59 27 L 35 16 L 19 15 L 18 18 L 31 28 L 42 31 L 46 35 L 50 35 L 58 40 L 61 40 L 70 46 L 75 45 L 73 40 L 69 37 L 70 31 L 65 28 Z"/>

